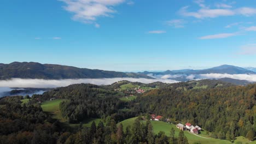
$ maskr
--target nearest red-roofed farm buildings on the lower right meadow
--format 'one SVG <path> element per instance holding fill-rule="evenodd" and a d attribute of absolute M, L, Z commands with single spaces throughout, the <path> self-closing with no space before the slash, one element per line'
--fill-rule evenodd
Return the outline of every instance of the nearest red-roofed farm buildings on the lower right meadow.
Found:
<path fill-rule="evenodd" d="M 156 116 L 155 114 L 152 114 L 150 121 L 162 121 L 162 118 L 162 116 Z M 194 127 L 194 125 L 192 125 L 191 123 L 186 123 L 185 125 L 178 123 L 176 127 L 182 131 L 188 130 L 190 131 L 190 133 L 193 134 L 199 134 L 199 131 L 201 130 L 201 128 L 198 125 Z"/>

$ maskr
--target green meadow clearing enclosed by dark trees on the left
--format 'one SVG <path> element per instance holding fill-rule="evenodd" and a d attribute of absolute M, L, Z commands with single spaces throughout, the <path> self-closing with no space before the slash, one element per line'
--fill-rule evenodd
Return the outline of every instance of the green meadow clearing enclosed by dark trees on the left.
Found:
<path fill-rule="evenodd" d="M 43 111 L 53 115 L 53 118 L 59 119 L 61 122 L 63 122 L 64 119 L 61 117 L 59 106 L 60 106 L 60 103 L 64 100 L 65 99 L 47 100 L 41 104 L 41 107 Z"/>

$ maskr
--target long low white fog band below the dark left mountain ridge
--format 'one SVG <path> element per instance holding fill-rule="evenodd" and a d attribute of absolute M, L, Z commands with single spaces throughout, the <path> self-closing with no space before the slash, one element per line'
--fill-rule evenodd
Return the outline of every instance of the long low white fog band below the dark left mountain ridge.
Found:
<path fill-rule="evenodd" d="M 0 87 L 19 87 L 19 88 L 55 88 L 55 87 L 65 87 L 68 85 L 76 83 L 92 83 L 95 85 L 110 85 L 114 82 L 127 80 L 131 82 L 142 82 L 142 83 L 152 83 L 152 82 L 165 82 L 165 83 L 175 83 L 175 80 L 164 80 L 164 79 L 135 79 L 135 78 L 111 78 L 111 79 L 63 79 L 63 80 L 43 80 L 43 79 L 10 79 L 1 80 Z"/>

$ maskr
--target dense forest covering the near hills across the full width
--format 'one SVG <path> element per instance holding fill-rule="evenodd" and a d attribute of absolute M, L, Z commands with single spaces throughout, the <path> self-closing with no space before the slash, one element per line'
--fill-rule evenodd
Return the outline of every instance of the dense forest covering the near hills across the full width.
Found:
<path fill-rule="evenodd" d="M 214 138 L 255 135 L 256 85 L 234 86 L 216 80 L 149 85 L 135 82 L 132 85 L 152 89 L 138 94 L 135 100 L 120 100 L 129 95 L 128 89 L 120 86 L 129 83 L 55 88 L 34 94 L 27 104 L 21 104 L 21 96 L 1 98 L 0 143 L 187 143 L 182 132 L 179 137 L 172 132 L 154 135 L 147 121 L 152 113 L 164 116 L 162 121 L 199 125 Z M 65 123 L 42 111 L 40 103 L 51 98 L 63 99 L 60 111 Z M 132 127 L 125 130 L 117 124 L 137 116 Z M 68 125 L 89 118 L 103 120 L 90 127 L 74 129 Z"/>

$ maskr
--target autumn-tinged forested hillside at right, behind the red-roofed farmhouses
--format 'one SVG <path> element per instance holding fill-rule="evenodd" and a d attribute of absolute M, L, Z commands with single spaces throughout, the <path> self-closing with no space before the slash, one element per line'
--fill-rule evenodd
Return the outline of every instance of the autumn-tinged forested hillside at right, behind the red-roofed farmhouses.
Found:
<path fill-rule="evenodd" d="M 212 137 L 230 140 L 256 132 L 255 101 L 256 85 L 248 85 L 189 91 L 155 89 L 133 104 L 137 104 L 137 111 L 200 125 L 212 132 Z"/>

